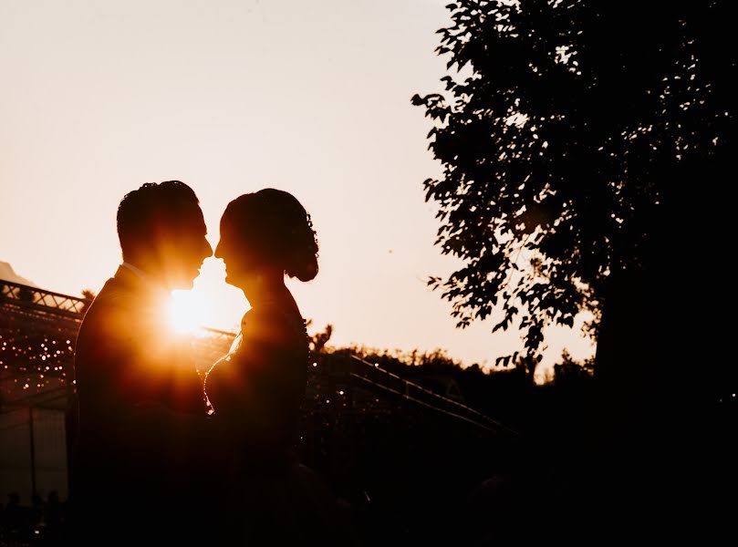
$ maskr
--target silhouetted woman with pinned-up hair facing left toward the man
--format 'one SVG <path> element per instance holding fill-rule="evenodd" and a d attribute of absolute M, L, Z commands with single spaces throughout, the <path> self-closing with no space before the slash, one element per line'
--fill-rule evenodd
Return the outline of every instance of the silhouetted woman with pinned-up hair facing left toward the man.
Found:
<path fill-rule="evenodd" d="M 215 256 L 251 309 L 228 355 L 205 378 L 225 439 L 221 492 L 229 541 L 347 545 L 337 501 L 299 463 L 296 440 L 309 359 L 306 323 L 285 275 L 317 275 L 317 239 L 296 198 L 271 188 L 228 204 Z M 349 534 L 350 535 L 350 534 Z"/>

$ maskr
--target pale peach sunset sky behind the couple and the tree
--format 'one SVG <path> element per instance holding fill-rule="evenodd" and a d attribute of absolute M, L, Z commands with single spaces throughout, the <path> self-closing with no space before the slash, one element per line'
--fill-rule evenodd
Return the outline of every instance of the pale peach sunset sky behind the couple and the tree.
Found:
<path fill-rule="evenodd" d="M 433 350 L 470 365 L 516 349 L 493 322 L 454 327 L 425 284 L 422 181 L 440 171 L 414 93 L 439 91 L 446 0 L 0 0 L 0 260 L 48 290 L 98 291 L 120 263 L 115 215 L 147 181 L 200 197 L 209 239 L 228 201 L 290 191 L 313 216 L 320 273 L 290 282 L 333 345 Z M 234 330 L 244 295 L 206 260 L 203 324 Z M 589 342 L 547 337 L 544 364 Z"/>

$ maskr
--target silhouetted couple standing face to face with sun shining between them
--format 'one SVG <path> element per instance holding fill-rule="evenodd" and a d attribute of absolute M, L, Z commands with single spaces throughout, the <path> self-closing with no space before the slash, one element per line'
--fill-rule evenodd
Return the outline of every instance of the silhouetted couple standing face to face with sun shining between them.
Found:
<path fill-rule="evenodd" d="M 165 302 L 213 253 L 180 181 L 120 202 L 123 263 L 79 330 L 78 441 L 70 501 L 78 541 L 349 544 L 338 504 L 296 457 L 306 325 L 285 275 L 317 275 L 310 215 L 286 191 L 229 203 L 215 256 L 251 304 L 207 374 L 172 335 Z"/>

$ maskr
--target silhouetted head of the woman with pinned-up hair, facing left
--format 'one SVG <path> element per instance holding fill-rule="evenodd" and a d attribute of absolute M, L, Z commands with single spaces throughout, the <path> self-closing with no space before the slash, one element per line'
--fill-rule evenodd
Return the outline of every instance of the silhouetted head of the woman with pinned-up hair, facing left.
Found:
<path fill-rule="evenodd" d="M 286 191 L 265 188 L 239 196 L 223 212 L 215 256 L 225 262 L 225 281 L 230 284 L 274 268 L 310 281 L 317 275 L 310 214 Z"/>

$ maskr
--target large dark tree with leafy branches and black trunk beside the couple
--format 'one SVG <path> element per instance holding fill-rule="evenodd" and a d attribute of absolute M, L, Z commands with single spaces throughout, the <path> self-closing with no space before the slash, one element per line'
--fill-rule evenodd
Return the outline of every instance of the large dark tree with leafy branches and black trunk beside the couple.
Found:
<path fill-rule="evenodd" d="M 439 31 L 446 91 L 412 98 L 436 122 L 437 243 L 463 261 L 430 284 L 458 325 L 494 309 L 535 358 L 547 325 L 595 316 L 592 458 L 572 496 L 595 532 L 730 521 L 728 5 L 460 0 Z"/>

